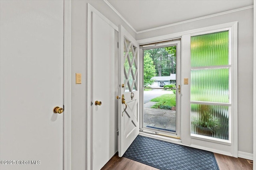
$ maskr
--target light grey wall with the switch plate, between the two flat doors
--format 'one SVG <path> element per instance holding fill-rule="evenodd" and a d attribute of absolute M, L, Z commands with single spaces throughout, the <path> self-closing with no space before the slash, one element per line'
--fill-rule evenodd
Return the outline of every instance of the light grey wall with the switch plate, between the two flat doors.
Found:
<path fill-rule="evenodd" d="M 102 13 L 115 25 L 122 24 L 133 37 L 136 33 L 119 18 L 109 6 L 98 0 L 71 1 L 71 71 L 72 71 L 72 113 L 71 113 L 71 166 L 74 170 L 86 169 L 86 60 L 87 60 L 87 3 Z M 75 84 L 75 74 L 82 73 L 82 84 Z"/>

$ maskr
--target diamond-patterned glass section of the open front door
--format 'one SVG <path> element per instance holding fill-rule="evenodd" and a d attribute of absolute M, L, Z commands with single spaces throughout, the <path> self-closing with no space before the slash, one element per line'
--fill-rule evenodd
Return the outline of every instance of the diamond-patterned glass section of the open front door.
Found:
<path fill-rule="evenodd" d="M 124 37 L 124 85 L 125 92 L 136 91 L 138 80 L 138 65 L 137 65 L 136 48 L 132 42 Z"/>

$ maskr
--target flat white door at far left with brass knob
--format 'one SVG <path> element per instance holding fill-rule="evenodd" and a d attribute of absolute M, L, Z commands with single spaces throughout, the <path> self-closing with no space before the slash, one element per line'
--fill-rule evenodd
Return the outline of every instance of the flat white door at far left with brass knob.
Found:
<path fill-rule="evenodd" d="M 63 1 L 1 0 L 0 37 L 0 169 L 62 170 Z"/>

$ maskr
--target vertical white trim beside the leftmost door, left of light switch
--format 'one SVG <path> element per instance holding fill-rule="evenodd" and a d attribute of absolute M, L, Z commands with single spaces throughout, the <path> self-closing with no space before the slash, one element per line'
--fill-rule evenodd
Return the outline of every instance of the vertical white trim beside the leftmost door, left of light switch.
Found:
<path fill-rule="evenodd" d="M 71 170 L 71 0 L 64 0 L 63 21 L 63 170 Z"/>

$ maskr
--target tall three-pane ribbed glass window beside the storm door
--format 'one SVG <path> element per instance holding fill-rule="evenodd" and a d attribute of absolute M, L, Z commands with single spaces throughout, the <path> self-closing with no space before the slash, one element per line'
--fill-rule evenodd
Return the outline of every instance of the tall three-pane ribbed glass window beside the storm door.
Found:
<path fill-rule="evenodd" d="M 191 134 L 230 140 L 230 32 L 191 37 Z"/>

